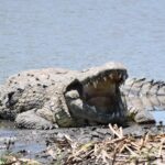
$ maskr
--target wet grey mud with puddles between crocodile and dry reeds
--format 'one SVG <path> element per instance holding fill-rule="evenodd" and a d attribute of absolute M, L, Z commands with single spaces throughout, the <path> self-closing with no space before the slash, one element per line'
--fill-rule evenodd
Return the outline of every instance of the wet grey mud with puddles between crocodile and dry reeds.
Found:
<path fill-rule="evenodd" d="M 7 153 L 18 154 L 20 157 L 33 158 L 41 164 L 56 163 L 46 153 L 47 147 L 58 143 L 66 135 L 74 142 L 81 144 L 89 142 L 99 142 L 112 136 L 108 127 L 87 127 L 87 128 L 69 128 L 55 130 L 18 130 L 13 128 L 13 123 L 8 129 L 0 130 L 0 155 Z M 123 128 L 123 134 L 133 136 L 165 133 L 164 125 L 138 125 L 130 123 Z"/>

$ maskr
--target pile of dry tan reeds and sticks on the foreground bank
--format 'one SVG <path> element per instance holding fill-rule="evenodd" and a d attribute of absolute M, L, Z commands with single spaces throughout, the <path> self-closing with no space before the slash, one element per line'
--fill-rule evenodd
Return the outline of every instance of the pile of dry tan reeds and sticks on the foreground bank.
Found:
<path fill-rule="evenodd" d="M 117 125 L 109 124 L 109 129 L 112 136 L 86 144 L 65 135 L 47 153 L 64 164 L 165 164 L 165 134 L 133 136 L 123 135 L 122 128 Z"/>

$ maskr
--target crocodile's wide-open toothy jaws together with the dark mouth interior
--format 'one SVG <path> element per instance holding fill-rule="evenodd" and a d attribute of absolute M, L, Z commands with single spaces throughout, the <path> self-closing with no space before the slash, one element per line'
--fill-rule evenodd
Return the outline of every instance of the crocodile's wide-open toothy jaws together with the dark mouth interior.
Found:
<path fill-rule="evenodd" d="M 99 73 L 89 70 L 88 77 L 75 84 L 76 90 L 72 86 L 66 92 L 66 98 L 69 98 L 67 105 L 74 110 L 73 114 L 77 112 L 81 118 L 97 123 L 121 123 L 127 110 L 121 99 L 120 85 L 127 77 L 127 69 L 121 66 Z"/>

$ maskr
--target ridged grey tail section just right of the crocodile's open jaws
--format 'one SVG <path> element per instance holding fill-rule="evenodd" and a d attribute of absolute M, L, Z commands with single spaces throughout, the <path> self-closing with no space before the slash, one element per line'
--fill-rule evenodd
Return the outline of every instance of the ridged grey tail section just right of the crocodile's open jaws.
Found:
<path fill-rule="evenodd" d="M 165 81 L 146 78 L 129 78 L 121 87 L 124 96 L 165 96 Z"/>

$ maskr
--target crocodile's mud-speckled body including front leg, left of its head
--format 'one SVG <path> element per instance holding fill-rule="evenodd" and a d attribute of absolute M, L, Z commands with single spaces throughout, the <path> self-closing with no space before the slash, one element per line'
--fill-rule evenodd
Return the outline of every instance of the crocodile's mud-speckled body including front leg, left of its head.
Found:
<path fill-rule="evenodd" d="M 10 77 L 1 87 L 0 117 L 13 120 L 22 113 L 21 117 L 18 116 L 19 127 L 44 129 L 56 123 L 54 111 L 58 113 L 64 109 L 63 120 L 65 121 L 66 114 L 69 122 L 69 112 L 63 101 L 63 91 L 73 79 L 68 73 L 76 74 L 76 72 L 48 68 L 29 70 Z"/>

